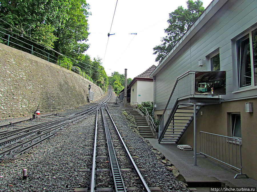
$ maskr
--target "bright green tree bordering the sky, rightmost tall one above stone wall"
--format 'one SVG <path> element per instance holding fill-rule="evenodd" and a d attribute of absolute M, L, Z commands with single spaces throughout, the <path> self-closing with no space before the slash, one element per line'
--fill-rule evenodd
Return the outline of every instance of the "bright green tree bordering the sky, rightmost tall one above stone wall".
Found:
<path fill-rule="evenodd" d="M 81 60 L 82 53 L 89 48 L 85 43 L 89 35 L 87 23 L 87 17 L 90 15 L 87 11 L 89 5 L 85 0 L 71 0 L 68 8 L 64 13 L 65 20 L 62 20 L 55 31 L 58 40 L 55 41 L 54 48 L 59 53 Z"/>

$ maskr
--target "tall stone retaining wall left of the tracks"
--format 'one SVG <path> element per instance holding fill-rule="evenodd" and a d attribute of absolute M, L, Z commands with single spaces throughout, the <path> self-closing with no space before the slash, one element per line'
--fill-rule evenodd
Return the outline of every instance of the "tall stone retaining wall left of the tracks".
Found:
<path fill-rule="evenodd" d="M 0 119 L 87 103 L 88 85 L 99 100 L 104 92 L 89 80 L 29 53 L 0 44 Z"/>

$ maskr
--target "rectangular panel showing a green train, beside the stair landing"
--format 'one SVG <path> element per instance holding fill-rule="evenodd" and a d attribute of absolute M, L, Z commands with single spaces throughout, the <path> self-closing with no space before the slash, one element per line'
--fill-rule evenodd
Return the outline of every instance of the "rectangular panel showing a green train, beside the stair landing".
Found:
<path fill-rule="evenodd" d="M 196 72 L 194 75 L 196 95 L 225 95 L 226 71 Z"/>

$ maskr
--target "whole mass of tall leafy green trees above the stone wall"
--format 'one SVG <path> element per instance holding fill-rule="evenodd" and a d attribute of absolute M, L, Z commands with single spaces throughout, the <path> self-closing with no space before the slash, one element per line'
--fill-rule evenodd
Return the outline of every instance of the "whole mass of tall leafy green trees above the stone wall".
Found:
<path fill-rule="evenodd" d="M 57 58 L 59 52 L 80 60 L 89 47 L 88 9 L 85 0 L 2 0 L 0 27 L 21 37 L 31 35 L 31 40 L 53 48 Z"/>

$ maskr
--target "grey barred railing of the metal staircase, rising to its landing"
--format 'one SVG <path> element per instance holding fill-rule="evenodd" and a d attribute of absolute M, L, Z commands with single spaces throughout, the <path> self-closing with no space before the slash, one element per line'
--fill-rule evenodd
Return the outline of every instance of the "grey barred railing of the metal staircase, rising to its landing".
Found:
<path fill-rule="evenodd" d="M 195 72 L 201 72 L 201 71 L 190 70 L 190 71 L 187 71 L 186 73 L 180 75 L 179 77 L 177 77 L 176 82 L 173 86 L 172 92 L 170 94 L 170 97 L 168 99 L 168 102 L 167 102 L 167 104 L 164 108 L 164 111 L 162 113 L 162 117 L 160 119 L 159 138 L 160 138 L 160 135 L 162 134 L 162 131 L 163 131 L 163 128 L 164 128 L 164 116 L 167 116 L 166 117 L 167 119 L 168 119 L 168 116 L 169 116 L 167 114 L 169 112 L 169 111 L 167 112 L 167 109 L 172 110 L 172 108 L 174 107 L 174 104 L 177 102 L 178 98 L 189 96 L 189 95 L 194 95 L 194 92 L 191 93 L 191 91 L 192 91 L 191 82 L 194 82 L 194 79 L 190 80 L 190 78 L 191 78 L 190 75 L 194 74 Z M 180 85 L 178 85 L 178 83 L 180 83 L 180 80 L 182 80 L 183 78 L 185 78 L 185 80 L 183 82 L 181 82 Z M 176 90 L 177 86 L 183 86 L 183 91 L 184 92 L 178 92 L 179 90 Z M 194 86 L 193 86 L 193 90 L 194 90 Z"/>

